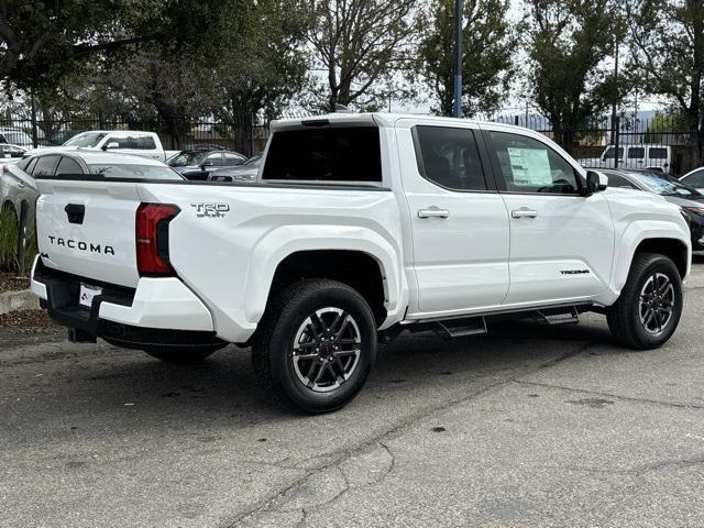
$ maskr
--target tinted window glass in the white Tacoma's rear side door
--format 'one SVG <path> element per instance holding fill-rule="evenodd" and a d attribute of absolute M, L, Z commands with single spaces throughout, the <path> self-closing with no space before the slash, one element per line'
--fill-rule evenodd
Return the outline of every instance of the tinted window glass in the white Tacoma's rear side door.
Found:
<path fill-rule="evenodd" d="M 469 129 L 416 127 L 420 173 L 452 190 L 486 190 L 474 133 Z"/>

